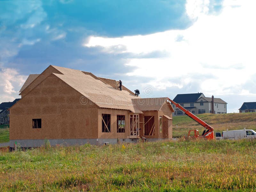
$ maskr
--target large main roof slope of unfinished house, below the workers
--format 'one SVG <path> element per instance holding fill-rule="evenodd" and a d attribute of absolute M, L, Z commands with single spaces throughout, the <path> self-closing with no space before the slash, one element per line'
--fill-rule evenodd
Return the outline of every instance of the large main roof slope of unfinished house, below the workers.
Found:
<path fill-rule="evenodd" d="M 134 113 L 142 113 L 137 106 L 132 104 L 132 98 L 136 96 L 130 91 L 118 90 L 104 83 L 100 78 L 89 72 L 53 66 L 62 74 L 53 73 L 79 93 L 90 99 L 101 108 L 130 110 Z M 84 82 L 84 83 L 83 83 Z"/>

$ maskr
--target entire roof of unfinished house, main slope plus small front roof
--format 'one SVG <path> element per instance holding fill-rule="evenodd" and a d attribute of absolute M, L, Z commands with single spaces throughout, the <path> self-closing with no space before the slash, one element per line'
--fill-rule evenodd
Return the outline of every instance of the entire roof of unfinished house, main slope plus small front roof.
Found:
<path fill-rule="evenodd" d="M 129 110 L 133 113 L 142 113 L 142 109 L 144 111 L 160 110 L 166 101 L 166 98 L 148 98 L 150 104 L 145 104 L 145 106 L 142 107 L 138 104 L 140 103 L 138 102 L 140 97 L 135 96 L 131 90 L 124 86 L 122 91 L 116 89 L 116 80 L 97 77 L 90 72 L 84 72 L 60 66 L 50 65 L 48 68 L 52 70 L 52 75 L 55 75 L 64 81 L 66 84 L 74 88 L 76 91 L 88 98 L 94 104 L 98 105 L 100 108 L 121 109 Z M 36 79 L 40 78 L 40 75 L 37 76 Z M 45 78 L 47 77 L 42 77 L 41 82 L 44 81 Z M 26 82 L 28 83 L 31 81 L 32 78 L 30 78 L 30 81 Z M 32 86 L 35 87 L 37 85 L 38 82 Z M 33 87 L 31 87 L 31 90 Z M 158 99 L 158 101 L 156 99 Z M 147 99 L 142 100 L 145 102 Z M 169 105 L 171 110 L 173 110 L 171 104 Z"/>

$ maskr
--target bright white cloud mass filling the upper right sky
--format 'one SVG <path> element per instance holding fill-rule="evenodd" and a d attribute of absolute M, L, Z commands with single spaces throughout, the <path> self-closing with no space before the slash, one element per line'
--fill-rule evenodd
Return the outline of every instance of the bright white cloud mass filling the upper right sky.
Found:
<path fill-rule="evenodd" d="M 254 95 L 253 87 L 243 86 L 256 69 L 255 2 L 221 3 L 220 9 L 216 8 L 218 2 L 187 1 L 187 14 L 194 20 L 187 29 L 119 38 L 91 36 L 83 46 L 98 47 L 106 53 L 132 53 L 133 58 L 125 65 L 137 68 L 127 75 L 154 78 L 147 83 L 154 90 L 199 91 L 206 96 Z M 136 57 L 155 51 L 165 52 L 167 57 Z"/>

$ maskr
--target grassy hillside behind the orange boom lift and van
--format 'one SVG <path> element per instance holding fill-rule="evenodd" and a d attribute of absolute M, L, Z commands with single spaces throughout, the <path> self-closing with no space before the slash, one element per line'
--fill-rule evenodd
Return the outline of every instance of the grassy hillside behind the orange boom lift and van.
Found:
<path fill-rule="evenodd" d="M 222 132 L 237 129 L 253 129 L 256 130 L 256 113 L 228 113 L 228 114 L 210 114 L 205 113 L 197 115 L 204 122 L 214 128 L 215 132 Z M 185 116 L 173 117 L 172 134 L 173 137 L 187 135 L 189 130 L 198 129 L 199 134 L 203 133 L 204 127 L 196 121 Z"/>

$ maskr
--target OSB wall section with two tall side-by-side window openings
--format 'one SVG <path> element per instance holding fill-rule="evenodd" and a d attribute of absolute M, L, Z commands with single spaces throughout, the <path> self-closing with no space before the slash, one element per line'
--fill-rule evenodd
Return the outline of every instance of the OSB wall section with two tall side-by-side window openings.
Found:
<path fill-rule="evenodd" d="M 110 133 L 102 133 L 102 114 L 110 114 Z M 125 115 L 125 133 L 117 133 L 117 115 Z M 130 135 L 130 114 L 127 110 L 99 109 L 98 124 L 99 138 L 127 138 Z"/>

